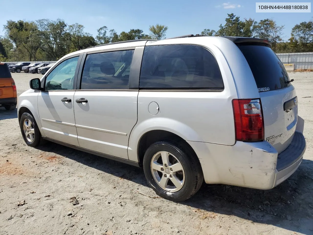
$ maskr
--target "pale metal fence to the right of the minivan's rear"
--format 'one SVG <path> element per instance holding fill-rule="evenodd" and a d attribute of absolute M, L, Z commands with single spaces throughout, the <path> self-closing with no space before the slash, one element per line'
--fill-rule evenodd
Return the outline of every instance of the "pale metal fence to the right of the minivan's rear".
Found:
<path fill-rule="evenodd" d="M 294 69 L 313 69 L 313 52 L 277 53 L 283 64 L 295 64 Z"/>

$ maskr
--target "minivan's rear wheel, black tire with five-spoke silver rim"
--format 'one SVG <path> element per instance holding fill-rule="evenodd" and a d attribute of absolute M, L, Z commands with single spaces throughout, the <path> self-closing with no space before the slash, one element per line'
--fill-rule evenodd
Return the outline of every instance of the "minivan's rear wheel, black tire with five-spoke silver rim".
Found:
<path fill-rule="evenodd" d="M 157 195 L 185 201 L 203 183 L 198 157 L 184 144 L 160 141 L 152 144 L 143 158 L 146 179 Z"/>

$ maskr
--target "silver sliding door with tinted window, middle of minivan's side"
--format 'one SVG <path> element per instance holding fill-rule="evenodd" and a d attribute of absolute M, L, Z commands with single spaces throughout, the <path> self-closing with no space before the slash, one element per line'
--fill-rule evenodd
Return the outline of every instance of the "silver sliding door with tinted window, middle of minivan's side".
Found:
<path fill-rule="evenodd" d="M 128 89 L 133 54 L 87 55 L 73 100 L 80 147 L 128 159 L 129 134 L 137 122 L 138 90 Z"/>

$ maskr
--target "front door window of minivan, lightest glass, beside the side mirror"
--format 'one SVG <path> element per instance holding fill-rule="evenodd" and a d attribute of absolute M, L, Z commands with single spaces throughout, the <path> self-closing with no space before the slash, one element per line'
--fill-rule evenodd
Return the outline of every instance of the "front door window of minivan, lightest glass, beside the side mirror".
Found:
<path fill-rule="evenodd" d="M 72 90 L 78 57 L 64 60 L 46 77 L 46 91 Z"/>

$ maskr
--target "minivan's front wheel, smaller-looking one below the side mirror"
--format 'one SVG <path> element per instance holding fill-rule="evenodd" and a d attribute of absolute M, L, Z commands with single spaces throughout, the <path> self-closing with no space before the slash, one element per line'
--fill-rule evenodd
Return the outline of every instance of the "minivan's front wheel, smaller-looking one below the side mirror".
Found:
<path fill-rule="evenodd" d="M 25 143 L 30 147 L 37 147 L 40 144 L 41 134 L 35 118 L 24 112 L 20 120 L 20 129 Z"/>

